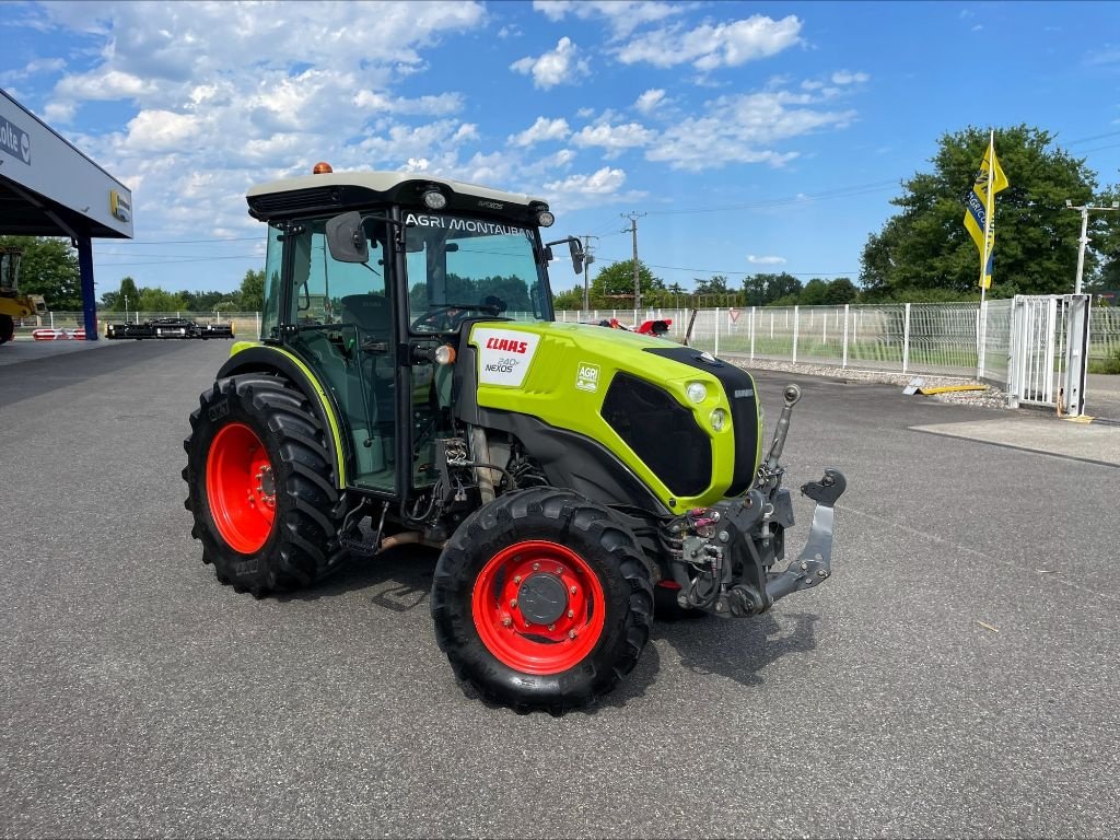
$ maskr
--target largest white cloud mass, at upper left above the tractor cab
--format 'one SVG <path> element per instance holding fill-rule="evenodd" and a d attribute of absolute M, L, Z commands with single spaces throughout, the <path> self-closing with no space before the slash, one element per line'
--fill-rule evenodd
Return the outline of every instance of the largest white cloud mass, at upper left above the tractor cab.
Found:
<path fill-rule="evenodd" d="M 308 172 L 323 159 L 336 170 L 463 177 L 480 142 L 476 125 L 454 119 L 463 94 L 399 87 L 424 69 L 427 50 L 486 22 L 479 2 L 382 2 L 365 7 L 372 13 L 295 2 L 29 8 L 34 19 L 21 26 L 55 34 L 60 45 L 81 32 L 84 45 L 81 63 L 63 47 L 37 59 L 40 72 L 62 71 L 45 119 L 74 124 L 86 103 L 123 104 L 123 118 L 113 111 L 118 127 L 99 115 L 88 123 L 96 129 L 71 139 L 133 189 L 147 235 L 181 235 L 183 223 L 199 220 L 211 230 L 256 232 L 245 188 Z"/>

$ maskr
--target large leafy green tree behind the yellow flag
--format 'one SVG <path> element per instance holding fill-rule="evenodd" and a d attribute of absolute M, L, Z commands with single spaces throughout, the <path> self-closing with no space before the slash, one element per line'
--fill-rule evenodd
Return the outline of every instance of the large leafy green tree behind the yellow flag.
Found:
<path fill-rule="evenodd" d="M 900 211 L 871 234 L 861 256 L 865 298 L 918 289 L 967 296 L 979 291 L 980 253 L 964 228 L 964 200 L 988 148 L 988 131 L 969 127 L 942 136 L 932 172 L 917 172 L 892 199 Z M 1051 148 L 1053 136 L 1018 125 L 996 131 L 996 153 L 1009 186 L 996 197 L 992 295 L 1068 291 L 1080 226 L 1066 199 L 1091 199 L 1095 175 L 1084 159 Z"/>

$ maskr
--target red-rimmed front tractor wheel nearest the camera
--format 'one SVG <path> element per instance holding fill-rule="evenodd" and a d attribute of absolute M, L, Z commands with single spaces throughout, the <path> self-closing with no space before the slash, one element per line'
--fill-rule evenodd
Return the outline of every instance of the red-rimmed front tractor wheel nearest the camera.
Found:
<path fill-rule="evenodd" d="M 510 493 L 472 514 L 436 567 L 436 638 L 491 702 L 562 713 L 633 670 L 653 588 L 634 535 L 570 491 Z"/>

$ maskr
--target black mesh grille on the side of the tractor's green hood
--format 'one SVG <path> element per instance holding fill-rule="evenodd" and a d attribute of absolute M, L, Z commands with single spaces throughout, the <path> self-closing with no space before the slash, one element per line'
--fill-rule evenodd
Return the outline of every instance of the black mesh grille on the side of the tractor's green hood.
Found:
<path fill-rule="evenodd" d="M 711 441 L 668 391 L 618 373 L 600 413 L 675 495 L 699 496 L 711 484 Z"/>

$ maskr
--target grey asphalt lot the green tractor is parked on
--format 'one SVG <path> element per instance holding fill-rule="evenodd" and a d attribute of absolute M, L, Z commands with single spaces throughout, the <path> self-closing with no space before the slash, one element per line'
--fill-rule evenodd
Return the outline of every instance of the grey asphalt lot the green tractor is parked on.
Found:
<path fill-rule="evenodd" d="M 760 373 L 771 423 L 805 391 L 792 482 L 848 476 L 833 579 L 517 716 L 456 685 L 431 552 L 262 601 L 202 564 L 181 440 L 227 351 L 0 366 L 0 836 L 1117 834 L 1120 428 Z"/>

